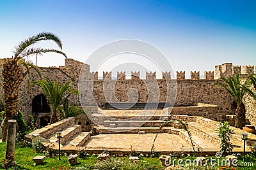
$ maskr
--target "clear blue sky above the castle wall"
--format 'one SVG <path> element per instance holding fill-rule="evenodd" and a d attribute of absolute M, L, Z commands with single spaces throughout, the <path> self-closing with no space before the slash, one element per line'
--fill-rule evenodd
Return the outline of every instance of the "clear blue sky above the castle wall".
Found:
<path fill-rule="evenodd" d="M 140 39 L 187 76 L 224 62 L 256 65 L 255 8 L 256 1 L 1 0 L 0 58 L 12 57 L 22 39 L 47 31 L 60 36 L 69 58 L 82 62 L 110 41 Z M 38 57 L 38 66 L 61 65 L 60 55 Z"/>

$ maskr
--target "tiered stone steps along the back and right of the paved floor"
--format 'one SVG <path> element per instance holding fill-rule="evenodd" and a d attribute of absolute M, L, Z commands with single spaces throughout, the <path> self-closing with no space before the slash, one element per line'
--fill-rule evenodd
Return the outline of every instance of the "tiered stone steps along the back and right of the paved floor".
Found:
<path fill-rule="evenodd" d="M 145 119 L 148 120 L 145 120 Z M 162 120 L 161 120 L 162 118 Z M 166 117 L 159 116 L 145 116 L 145 117 L 102 117 L 100 115 L 100 122 L 102 124 L 96 127 L 99 134 L 113 134 L 113 133 L 138 133 L 145 131 L 145 133 L 170 133 L 178 134 L 182 139 L 191 143 L 188 132 L 179 127 L 175 127 L 175 123 L 164 124 L 163 129 L 159 129 L 164 123 Z M 128 119 L 128 120 L 127 120 Z M 160 119 L 160 120 L 159 120 Z M 168 115 L 169 120 L 182 120 L 186 124 L 192 136 L 195 150 L 203 150 L 204 152 L 216 152 L 220 150 L 220 140 L 218 134 L 215 132 L 218 129 L 219 122 L 203 117 L 193 117 L 185 115 Z M 233 127 L 231 127 L 233 128 Z M 236 150 L 243 148 L 243 141 L 241 140 L 241 130 L 234 128 L 236 134 L 231 139 L 232 145 Z M 251 138 L 256 136 L 252 135 Z"/>

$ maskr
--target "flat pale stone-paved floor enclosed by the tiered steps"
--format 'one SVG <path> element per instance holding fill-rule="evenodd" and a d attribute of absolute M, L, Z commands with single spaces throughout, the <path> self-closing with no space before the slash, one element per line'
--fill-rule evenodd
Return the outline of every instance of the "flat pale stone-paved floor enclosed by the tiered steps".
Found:
<path fill-rule="evenodd" d="M 86 143 L 87 150 L 120 150 L 130 152 L 138 150 L 140 152 L 150 152 L 156 134 L 99 134 L 92 136 Z M 175 152 L 184 150 L 191 151 L 190 145 L 179 135 L 161 133 L 158 134 L 155 151 L 157 152 Z"/>

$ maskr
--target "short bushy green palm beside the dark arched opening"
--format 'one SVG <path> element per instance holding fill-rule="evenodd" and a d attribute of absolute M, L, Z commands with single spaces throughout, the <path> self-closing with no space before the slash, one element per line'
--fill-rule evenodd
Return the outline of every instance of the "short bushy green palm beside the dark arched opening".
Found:
<path fill-rule="evenodd" d="M 63 104 L 63 101 L 67 100 L 67 98 L 72 94 L 78 94 L 78 90 L 72 90 L 73 87 L 69 85 L 70 83 L 71 81 L 67 81 L 60 86 L 57 80 L 55 82 L 52 82 L 49 78 L 32 82 L 33 85 L 37 85 L 43 90 L 47 101 L 51 103 L 51 124 L 58 122 L 57 113 L 61 110 L 61 104 Z"/>

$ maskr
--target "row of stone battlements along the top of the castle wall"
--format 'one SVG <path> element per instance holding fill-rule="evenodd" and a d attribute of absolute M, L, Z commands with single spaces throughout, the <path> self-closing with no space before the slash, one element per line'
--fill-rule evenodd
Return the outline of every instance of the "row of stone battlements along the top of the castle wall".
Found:
<path fill-rule="evenodd" d="M 11 60 L 10 58 L 7 59 L 0 59 L 0 65 L 4 62 Z M 80 73 L 83 67 L 84 73 Z M 255 67 L 255 68 L 254 68 Z M 79 62 L 74 59 L 65 59 L 65 66 L 51 66 L 49 68 L 58 68 L 61 71 L 65 72 L 74 80 L 78 80 L 79 75 L 83 74 L 84 80 L 99 80 L 98 72 L 91 73 L 90 72 L 90 65 L 84 64 L 83 62 Z M 1 68 L 0 68 L 1 69 Z M 218 66 L 215 66 L 215 71 L 204 71 L 204 80 L 214 80 L 220 77 L 228 78 L 230 76 L 234 76 L 235 74 L 239 74 L 241 78 L 246 78 L 250 74 L 256 73 L 256 66 L 248 65 L 248 66 L 233 66 L 232 63 L 224 63 Z M 176 72 L 176 79 L 177 80 L 186 80 L 185 71 L 177 71 Z M 117 72 L 117 79 L 118 80 L 127 80 L 126 72 L 125 71 L 118 71 Z M 131 72 L 131 80 L 141 80 L 140 71 L 132 71 Z M 162 78 L 156 78 L 156 71 L 149 73 L 146 72 L 145 80 L 172 80 L 171 72 L 170 71 L 163 71 Z M 174 78 L 173 78 L 174 79 Z M 103 72 L 103 80 L 112 80 L 112 73 L 110 72 Z M 190 71 L 190 79 L 189 80 L 201 80 L 200 79 L 200 72 L 199 71 Z"/>

